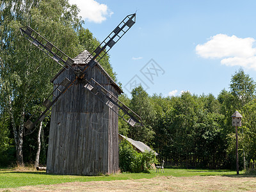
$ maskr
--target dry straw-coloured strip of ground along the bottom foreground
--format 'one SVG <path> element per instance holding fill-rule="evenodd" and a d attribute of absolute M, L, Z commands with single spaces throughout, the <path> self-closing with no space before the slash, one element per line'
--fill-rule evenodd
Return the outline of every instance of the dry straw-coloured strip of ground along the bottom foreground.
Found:
<path fill-rule="evenodd" d="M 256 191 L 255 177 L 155 177 L 23 186 L 10 191 Z M 0 190 L 1 191 L 1 190 Z M 7 190 L 6 190 L 7 191 Z"/>

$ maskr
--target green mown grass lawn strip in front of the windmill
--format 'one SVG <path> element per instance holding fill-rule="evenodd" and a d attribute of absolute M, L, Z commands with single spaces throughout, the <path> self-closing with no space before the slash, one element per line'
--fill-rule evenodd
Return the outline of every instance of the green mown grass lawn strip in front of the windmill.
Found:
<path fill-rule="evenodd" d="M 37 172 L 34 169 L 0 169 L 0 188 L 17 188 L 20 186 L 36 186 L 40 184 L 61 184 L 64 182 L 109 181 L 127 179 L 151 179 L 157 176 L 191 177 L 206 175 L 235 175 L 230 170 L 186 170 L 164 169 L 164 173 L 118 173 L 109 176 L 77 176 L 77 175 L 52 175 L 46 172 Z"/>

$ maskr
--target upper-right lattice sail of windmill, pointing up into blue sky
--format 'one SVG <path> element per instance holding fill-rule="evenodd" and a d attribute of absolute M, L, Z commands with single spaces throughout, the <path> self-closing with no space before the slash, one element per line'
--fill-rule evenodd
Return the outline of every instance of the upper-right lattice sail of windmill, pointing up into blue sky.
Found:
<path fill-rule="evenodd" d="M 125 19 L 105 38 L 105 40 L 84 61 L 89 67 L 94 67 L 108 51 L 122 38 L 136 21 L 136 13 L 127 15 Z"/>

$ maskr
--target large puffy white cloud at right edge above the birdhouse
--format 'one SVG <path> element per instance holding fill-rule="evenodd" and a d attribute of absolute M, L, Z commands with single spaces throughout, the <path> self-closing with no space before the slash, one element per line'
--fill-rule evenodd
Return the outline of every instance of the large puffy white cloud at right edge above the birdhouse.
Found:
<path fill-rule="evenodd" d="M 202 58 L 220 58 L 221 64 L 241 66 L 256 70 L 256 49 L 254 38 L 238 38 L 218 34 L 211 36 L 208 42 L 196 45 L 196 54 Z"/>

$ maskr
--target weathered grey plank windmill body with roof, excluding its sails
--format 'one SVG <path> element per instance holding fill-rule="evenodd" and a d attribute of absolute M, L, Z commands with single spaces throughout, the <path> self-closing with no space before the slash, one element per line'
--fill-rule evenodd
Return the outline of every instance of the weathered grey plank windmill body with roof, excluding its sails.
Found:
<path fill-rule="evenodd" d="M 84 67 L 90 56 L 83 51 L 74 65 Z M 95 79 L 116 97 L 122 90 L 97 63 L 85 70 L 86 79 Z M 52 79 L 54 88 L 63 79 L 74 79 L 72 70 L 62 69 Z M 110 109 L 84 88 L 84 80 L 68 88 L 51 113 L 47 173 L 97 175 L 118 171 L 118 108 Z M 58 93 L 56 93 L 58 94 Z"/>

